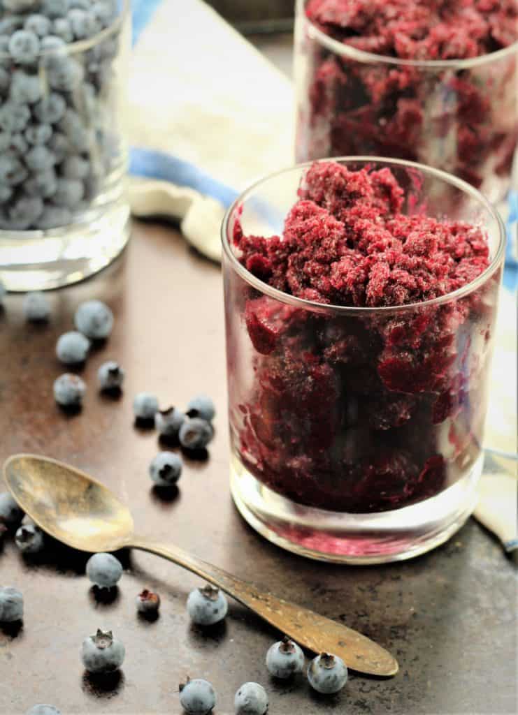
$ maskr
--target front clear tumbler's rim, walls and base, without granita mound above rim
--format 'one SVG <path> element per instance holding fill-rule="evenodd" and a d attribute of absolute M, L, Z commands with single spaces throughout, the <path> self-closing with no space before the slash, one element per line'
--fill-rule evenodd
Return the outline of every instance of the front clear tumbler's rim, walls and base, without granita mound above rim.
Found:
<path fill-rule="evenodd" d="M 434 300 L 322 305 L 266 285 L 233 247 L 236 222 L 244 235 L 282 235 L 309 164 L 255 184 L 223 222 L 234 501 L 290 551 L 380 563 L 444 542 L 474 508 L 505 233 L 461 179 L 402 160 L 338 161 L 389 167 L 406 187 L 404 213 L 426 206 L 481 226 L 491 258 Z"/>

